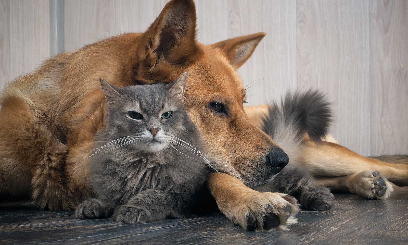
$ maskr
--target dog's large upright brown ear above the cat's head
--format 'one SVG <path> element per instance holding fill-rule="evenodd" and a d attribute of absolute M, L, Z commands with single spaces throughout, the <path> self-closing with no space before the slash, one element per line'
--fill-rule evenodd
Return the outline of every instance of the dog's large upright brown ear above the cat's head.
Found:
<path fill-rule="evenodd" d="M 162 74 L 169 76 L 194 61 L 199 53 L 196 19 L 193 0 L 168 2 L 137 45 L 133 65 L 135 79 L 144 83 L 162 82 L 160 80 L 168 79 L 161 77 Z"/>

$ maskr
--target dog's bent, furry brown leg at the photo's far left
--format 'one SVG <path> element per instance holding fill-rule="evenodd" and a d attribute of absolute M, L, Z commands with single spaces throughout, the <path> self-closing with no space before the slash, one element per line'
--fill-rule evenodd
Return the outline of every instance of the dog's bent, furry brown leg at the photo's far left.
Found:
<path fill-rule="evenodd" d="M 75 208 L 75 195 L 65 185 L 67 147 L 56 125 L 18 91 L 2 98 L 0 110 L 0 191 L 29 197 L 40 209 Z M 57 130 L 58 131 L 58 130 Z M 63 138 L 63 137 L 62 137 Z"/>

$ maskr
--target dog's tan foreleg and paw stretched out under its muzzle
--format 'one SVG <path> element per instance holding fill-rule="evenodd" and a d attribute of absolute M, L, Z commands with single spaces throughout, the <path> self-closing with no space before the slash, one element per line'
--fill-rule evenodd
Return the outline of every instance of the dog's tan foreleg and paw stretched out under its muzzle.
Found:
<path fill-rule="evenodd" d="M 257 192 L 237 178 L 223 173 L 210 174 L 208 187 L 220 211 L 245 230 L 284 230 L 297 222 L 294 215 L 299 209 L 293 196 Z"/>

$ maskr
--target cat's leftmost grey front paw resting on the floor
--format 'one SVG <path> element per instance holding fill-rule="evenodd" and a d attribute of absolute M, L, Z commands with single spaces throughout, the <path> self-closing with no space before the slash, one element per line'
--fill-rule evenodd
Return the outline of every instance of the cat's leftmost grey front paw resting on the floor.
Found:
<path fill-rule="evenodd" d="M 79 219 L 106 218 L 108 216 L 109 210 L 106 205 L 95 198 L 84 200 L 75 209 L 75 217 Z"/>

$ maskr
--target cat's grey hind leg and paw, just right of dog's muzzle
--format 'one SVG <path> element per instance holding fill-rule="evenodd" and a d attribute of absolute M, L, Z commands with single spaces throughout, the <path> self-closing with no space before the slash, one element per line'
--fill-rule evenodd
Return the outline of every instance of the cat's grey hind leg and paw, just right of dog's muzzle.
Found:
<path fill-rule="evenodd" d="M 261 187 L 260 192 L 283 192 L 299 200 L 302 208 L 327 211 L 334 207 L 334 196 L 326 187 L 317 185 L 313 177 L 303 167 L 291 165 L 284 167 L 273 180 Z"/>

